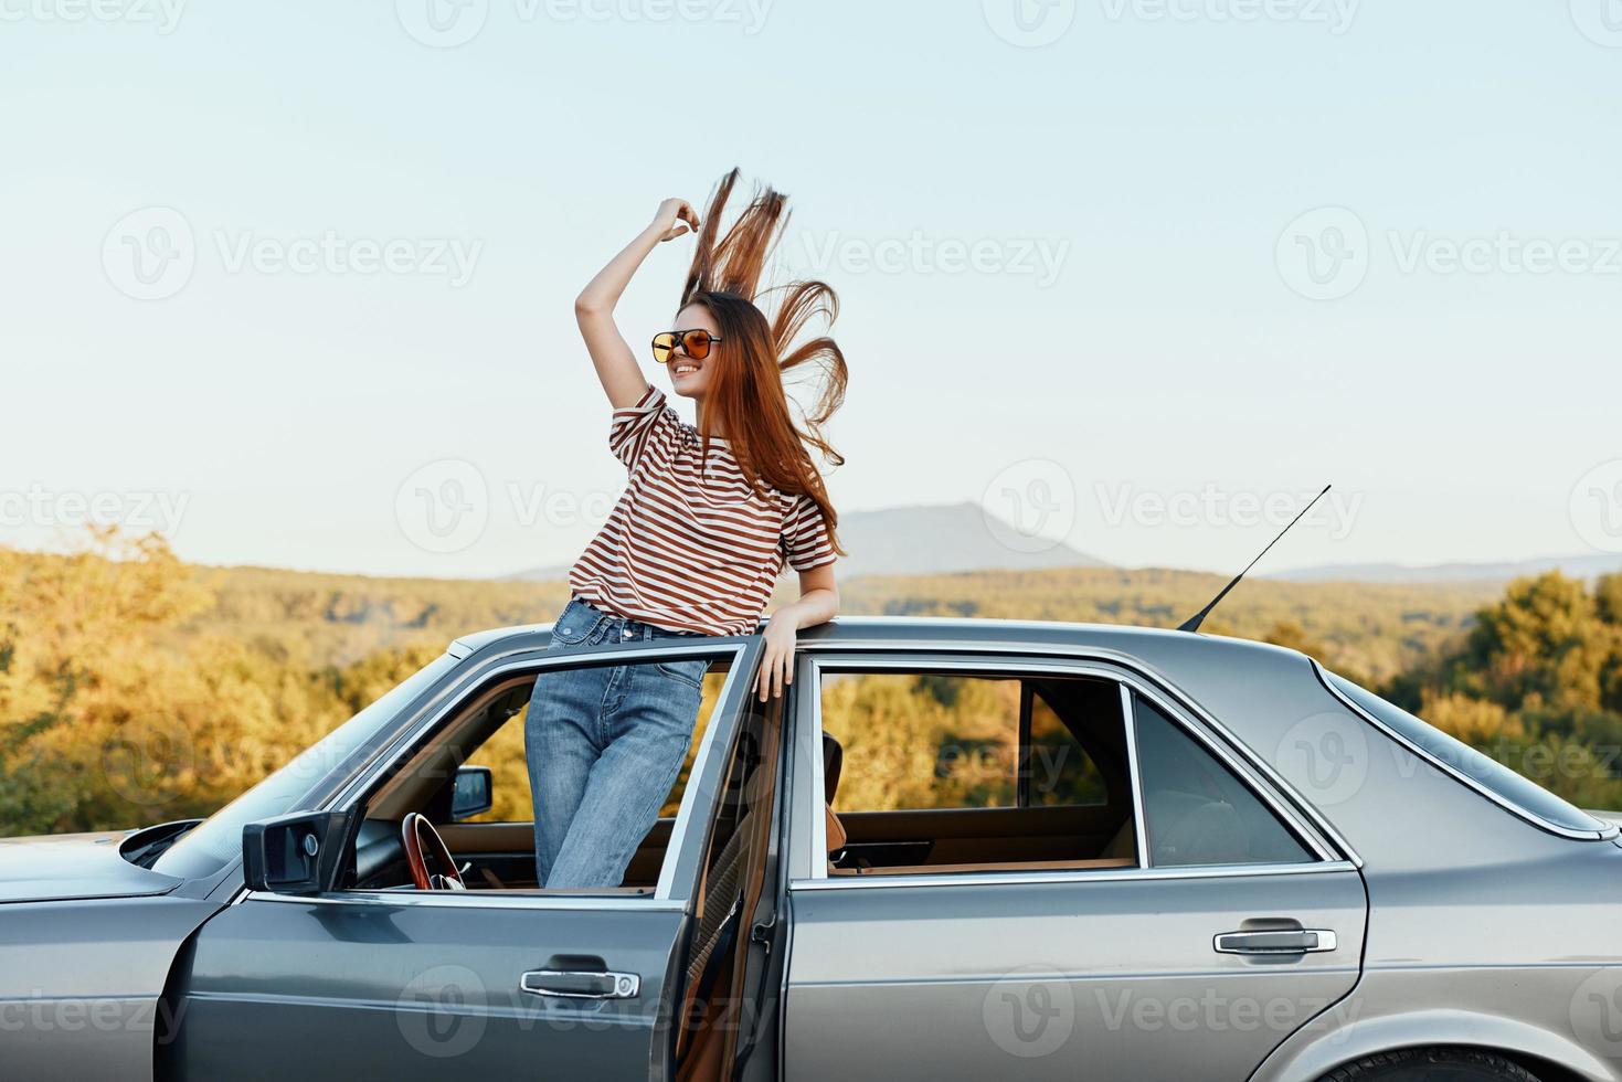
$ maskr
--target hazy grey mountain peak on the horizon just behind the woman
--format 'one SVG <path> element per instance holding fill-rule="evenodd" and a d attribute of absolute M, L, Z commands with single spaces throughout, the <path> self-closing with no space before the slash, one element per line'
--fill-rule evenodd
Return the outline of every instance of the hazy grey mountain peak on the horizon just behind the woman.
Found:
<path fill-rule="evenodd" d="M 839 539 L 850 555 L 842 579 L 865 574 L 946 574 L 952 571 L 1035 571 L 1040 568 L 1105 568 L 1101 560 L 1064 543 L 1025 543 L 1017 530 L 976 503 L 852 511 L 839 519 Z M 1043 545 L 1046 545 L 1043 542 Z M 519 581 L 568 577 L 569 568 L 534 568 Z"/>

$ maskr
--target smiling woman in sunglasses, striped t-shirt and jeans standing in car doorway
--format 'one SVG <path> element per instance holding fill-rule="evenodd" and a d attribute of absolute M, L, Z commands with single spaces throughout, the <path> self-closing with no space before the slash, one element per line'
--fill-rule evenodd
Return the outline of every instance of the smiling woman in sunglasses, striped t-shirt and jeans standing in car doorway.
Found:
<path fill-rule="evenodd" d="M 793 678 L 795 633 L 839 610 L 839 516 L 808 449 L 839 454 L 822 423 L 845 393 L 845 359 L 830 337 L 795 346 L 834 290 L 796 282 L 775 316 L 756 307 L 761 271 L 787 221 L 766 190 L 717 237 L 736 183 L 710 196 L 702 225 L 683 200 L 654 221 L 574 302 L 586 349 L 613 406 L 608 446 L 629 470 L 624 495 L 569 573 L 573 599 L 553 625 L 553 649 L 668 636 L 753 634 L 787 563 L 800 600 L 766 626 L 756 693 L 780 696 Z M 688 425 L 642 376 L 613 310 L 642 260 L 697 234 L 673 329 L 654 339 L 672 389 L 694 401 Z M 822 393 L 801 425 L 783 373 L 821 368 Z M 618 886 L 654 826 L 697 720 L 707 662 L 597 667 L 545 673 L 526 722 L 535 800 L 535 869 L 555 887 Z"/>

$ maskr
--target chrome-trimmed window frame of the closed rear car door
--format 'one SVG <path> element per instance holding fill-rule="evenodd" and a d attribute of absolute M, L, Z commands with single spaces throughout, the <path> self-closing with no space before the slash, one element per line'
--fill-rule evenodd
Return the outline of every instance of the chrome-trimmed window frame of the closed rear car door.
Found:
<path fill-rule="evenodd" d="M 1053 871 L 985 871 L 899 876 L 829 876 L 827 827 L 822 806 L 822 756 L 814 754 L 822 732 L 822 672 L 986 672 L 1002 675 L 1092 676 L 1114 681 L 1121 689 L 1127 736 L 1127 769 L 1132 785 L 1132 816 L 1137 832 L 1137 868 L 1092 868 Z M 1215 719 L 1192 701 L 1174 693 L 1168 681 L 1121 657 L 1098 657 L 1087 652 L 1058 654 L 1051 644 L 1035 650 L 998 646 L 994 650 L 918 649 L 918 647 L 853 647 L 847 650 L 806 650 L 800 660 L 796 681 L 805 689 L 795 709 L 790 822 L 790 889 L 869 889 L 897 886 L 957 886 L 980 882 L 1077 882 L 1096 879 L 1207 878 L 1296 874 L 1361 866 L 1361 858 L 1338 832 L 1328 826 L 1299 793 L 1294 793 L 1272 767 L 1255 759 Z M 1140 696 L 1166 714 L 1179 730 L 1213 754 L 1239 782 L 1260 800 L 1296 837 L 1312 860 L 1304 863 L 1148 866 L 1144 795 L 1139 777 L 1137 728 L 1132 698 Z"/>

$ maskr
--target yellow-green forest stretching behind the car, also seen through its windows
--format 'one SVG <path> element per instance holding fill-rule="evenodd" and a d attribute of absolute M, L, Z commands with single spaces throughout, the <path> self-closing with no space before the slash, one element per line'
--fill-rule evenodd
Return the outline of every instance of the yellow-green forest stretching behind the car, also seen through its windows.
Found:
<path fill-rule="evenodd" d="M 1220 586 L 1067 568 L 856 579 L 842 594 L 848 613 L 1176 626 Z M 453 638 L 547 621 L 566 597 L 563 582 L 195 566 L 159 537 L 115 532 L 65 553 L 0 548 L 0 837 L 208 814 Z M 1622 806 L 1622 574 L 1508 589 L 1257 579 L 1205 631 L 1307 652 L 1580 805 Z M 863 740 L 890 741 L 886 761 L 923 756 L 912 775 L 926 779 L 942 748 L 985 745 L 985 719 L 1006 706 L 882 681 L 839 694 L 882 714 L 887 732 Z M 524 777 L 517 733 L 478 758 L 500 779 Z M 942 782 L 884 798 L 970 792 Z M 527 818 L 517 787 L 498 788 L 496 813 Z"/>

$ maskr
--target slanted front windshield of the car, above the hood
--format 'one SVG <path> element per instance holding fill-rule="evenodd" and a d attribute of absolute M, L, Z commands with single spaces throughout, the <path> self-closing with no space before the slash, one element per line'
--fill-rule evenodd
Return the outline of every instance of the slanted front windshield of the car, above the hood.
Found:
<path fill-rule="evenodd" d="M 371 741 L 406 704 L 454 667 L 456 659 L 449 654 L 428 662 L 360 714 L 310 745 L 292 762 L 188 831 L 157 858 L 152 868 L 196 879 L 211 876 L 237 860 L 242 855 L 243 826 L 298 811 L 302 798 L 326 777 L 328 771 Z"/>

